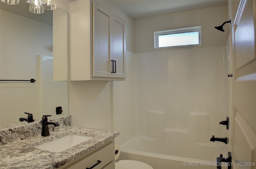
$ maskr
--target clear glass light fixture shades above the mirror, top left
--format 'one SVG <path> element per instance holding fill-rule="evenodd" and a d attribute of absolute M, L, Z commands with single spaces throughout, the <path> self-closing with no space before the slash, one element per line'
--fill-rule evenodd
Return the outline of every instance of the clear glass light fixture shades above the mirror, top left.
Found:
<path fill-rule="evenodd" d="M 17 5 L 20 0 L 1 0 L 8 5 Z M 28 10 L 34 14 L 42 14 L 44 10 L 55 10 L 56 4 L 52 3 L 52 0 L 26 0 L 29 4 Z"/>

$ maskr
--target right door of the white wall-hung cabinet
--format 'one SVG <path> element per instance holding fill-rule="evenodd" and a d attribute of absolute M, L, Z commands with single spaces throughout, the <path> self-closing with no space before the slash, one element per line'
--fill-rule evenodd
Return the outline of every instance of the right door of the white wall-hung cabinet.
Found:
<path fill-rule="evenodd" d="M 112 62 L 114 77 L 125 78 L 125 21 L 112 15 Z"/>

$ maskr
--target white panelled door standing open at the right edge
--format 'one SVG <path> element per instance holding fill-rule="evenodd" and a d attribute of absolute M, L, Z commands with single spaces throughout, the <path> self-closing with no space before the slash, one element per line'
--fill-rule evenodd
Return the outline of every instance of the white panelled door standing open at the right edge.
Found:
<path fill-rule="evenodd" d="M 232 26 L 231 150 L 233 168 L 256 168 L 256 2 L 241 0 Z M 224 156 L 224 155 L 223 155 Z"/>

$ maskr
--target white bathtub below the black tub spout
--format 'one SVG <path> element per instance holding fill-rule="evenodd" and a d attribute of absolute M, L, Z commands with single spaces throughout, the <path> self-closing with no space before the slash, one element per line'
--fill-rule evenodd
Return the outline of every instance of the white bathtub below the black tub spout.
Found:
<path fill-rule="evenodd" d="M 167 138 L 165 140 L 168 141 L 164 141 L 135 136 L 120 145 L 119 159 L 142 161 L 154 169 L 216 169 L 216 157 L 228 154 L 227 147 L 221 143 L 195 144 L 182 140 L 182 135 L 186 133 L 178 132 L 176 135 L 181 138 Z M 225 168 L 223 165 L 222 169 Z"/>

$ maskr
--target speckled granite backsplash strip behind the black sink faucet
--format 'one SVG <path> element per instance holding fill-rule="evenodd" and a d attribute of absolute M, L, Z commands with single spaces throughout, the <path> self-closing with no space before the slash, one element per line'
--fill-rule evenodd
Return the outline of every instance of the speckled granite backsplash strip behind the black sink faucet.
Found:
<path fill-rule="evenodd" d="M 56 118 L 49 119 L 48 121 L 59 122 L 60 126 L 58 127 L 49 125 L 49 130 L 54 131 L 62 127 L 71 126 L 72 116 L 67 115 L 67 116 L 56 117 Z M 41 132 L 42 132 L 41 122 L 26 123 L 20 126 L 4 128 L 0 130 L 0 145 L 11 143 L 13 141 L 17 141 L 20 139 L 26 139 L 33 136 L 38 136 L 38 135 L 41 135 Z"/>

